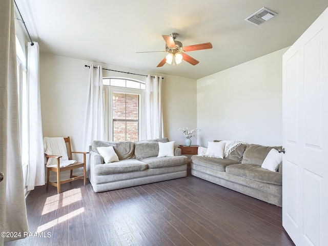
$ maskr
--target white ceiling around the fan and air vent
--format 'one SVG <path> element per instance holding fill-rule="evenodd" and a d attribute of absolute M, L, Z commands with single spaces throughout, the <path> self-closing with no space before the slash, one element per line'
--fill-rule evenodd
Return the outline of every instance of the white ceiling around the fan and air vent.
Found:
<path fill-rule="evenodd" d="M 40 51 L 198 79 L 292 45 L 328 7 L 327 0 L 16 0 Z M 278 13 L 259 26 L 244 19 L 262 7 Z M 179 33 L 192 66 L 165 64 L 161 35 Z"/>

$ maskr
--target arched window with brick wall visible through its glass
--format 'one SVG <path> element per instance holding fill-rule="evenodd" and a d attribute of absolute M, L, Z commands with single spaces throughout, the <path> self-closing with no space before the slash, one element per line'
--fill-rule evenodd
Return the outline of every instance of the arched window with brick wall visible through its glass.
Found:
<path fill-rule="evenodd" d="M 105 125 L 112 141 L 144 137 L 145 82 L 129 78 L 103 78 Z"/>

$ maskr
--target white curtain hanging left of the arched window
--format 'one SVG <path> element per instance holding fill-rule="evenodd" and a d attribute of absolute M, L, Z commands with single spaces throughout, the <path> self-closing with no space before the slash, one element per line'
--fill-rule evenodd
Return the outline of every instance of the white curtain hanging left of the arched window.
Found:
<path fill-rule="evenodd" d="M 86 150 L 93 140 L 106 140 L 105 136 L 105 110 L 103 90 L 103 69 L 90 65 L 89 93 L 86 107 L 83 146 Z M 87 170 L 89 165 L 87 163 Z"/>

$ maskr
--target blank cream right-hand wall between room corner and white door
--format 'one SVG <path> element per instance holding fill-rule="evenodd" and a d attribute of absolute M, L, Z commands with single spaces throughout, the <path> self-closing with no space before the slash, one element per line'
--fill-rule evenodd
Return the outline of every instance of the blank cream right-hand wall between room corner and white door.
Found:
<path fill-rule="evenodd" d="M 198 145 L 214 139 L 282 145 L 282 54 L 287 48 L 197 80 Z"/>

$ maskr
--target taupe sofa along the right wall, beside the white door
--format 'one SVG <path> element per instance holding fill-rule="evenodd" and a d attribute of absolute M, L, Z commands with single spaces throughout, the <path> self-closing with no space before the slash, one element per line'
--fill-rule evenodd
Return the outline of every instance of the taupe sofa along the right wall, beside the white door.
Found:
<path fill-rule="evenodd" d="M 191 174 L 281 207 L 282 162 L 276 172 L 261 168 L 273 148 L 281 149 L 242 144 L 225 158 L 194 155 L 191 157 Z"/>

